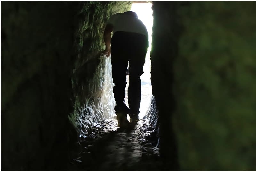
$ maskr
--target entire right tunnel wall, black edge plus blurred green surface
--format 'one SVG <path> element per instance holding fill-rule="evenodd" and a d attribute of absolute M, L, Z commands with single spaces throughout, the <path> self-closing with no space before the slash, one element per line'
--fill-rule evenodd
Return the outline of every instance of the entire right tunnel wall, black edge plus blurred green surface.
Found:
<path fill-rule="evenodd" d="M 153 2 L 152 89 L 170 133 L 160 150 L 177 138 L 167 154 L 181 170 L 256 169 L 255 5 Z"/>

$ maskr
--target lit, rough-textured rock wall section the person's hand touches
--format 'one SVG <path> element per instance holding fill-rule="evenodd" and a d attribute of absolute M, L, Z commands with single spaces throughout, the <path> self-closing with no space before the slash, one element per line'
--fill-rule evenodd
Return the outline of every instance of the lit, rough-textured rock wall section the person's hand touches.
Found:
<path fill-rule="evenodd" d="M 69 119 L 79 136 L 95 121 L 114 115 L 110 58 L 100 57 L 104 50 L 103 32 L 108 18 L 131 9 L 132 2 L 82 2 L 77 14 L 75 48 L 77 56 L 72 74 L 74 111 Z"/>

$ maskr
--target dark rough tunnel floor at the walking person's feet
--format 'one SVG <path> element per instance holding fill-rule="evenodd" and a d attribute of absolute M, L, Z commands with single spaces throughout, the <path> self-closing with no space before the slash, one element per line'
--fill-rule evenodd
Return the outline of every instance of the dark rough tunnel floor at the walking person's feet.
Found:
<path fill-rule="evenodd" d="M 71 162 L 72 170 L 161 170 L 156 131 L 146 120 L 117 128 L 115 119 L 98 121 L 81 141 L 82 151 Z"/>

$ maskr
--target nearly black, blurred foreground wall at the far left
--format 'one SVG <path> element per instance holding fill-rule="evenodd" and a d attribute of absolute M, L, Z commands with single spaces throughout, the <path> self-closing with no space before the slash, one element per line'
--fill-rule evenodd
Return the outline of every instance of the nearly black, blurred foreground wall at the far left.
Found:
<path fill-rule="evenodd" d="M 1 3 L 2 170 L 68 162 L 75 4 Z"/>

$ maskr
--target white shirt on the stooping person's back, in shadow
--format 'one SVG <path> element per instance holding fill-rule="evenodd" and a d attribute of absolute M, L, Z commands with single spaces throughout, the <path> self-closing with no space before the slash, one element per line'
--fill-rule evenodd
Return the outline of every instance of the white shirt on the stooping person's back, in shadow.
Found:
<path fill-rule="evenodd" d="M 132 32 L 143 34 L 148 39 L 148 31 L 143 22 L 137 17 L 133 17 L 123 13 L 117 13 L 112 15 L 108 24 L 113 25 L 113 34 L 116 31 Z"/>

